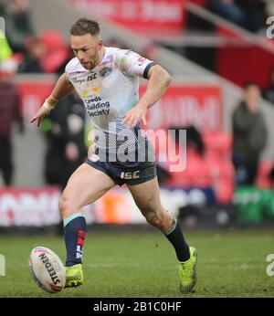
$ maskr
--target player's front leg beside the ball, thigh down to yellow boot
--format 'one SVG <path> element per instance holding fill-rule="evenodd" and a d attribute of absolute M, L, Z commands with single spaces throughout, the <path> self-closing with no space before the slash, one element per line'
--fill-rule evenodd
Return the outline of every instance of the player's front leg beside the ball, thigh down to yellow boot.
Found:
<path fill-rule="evenodd" d="M 81 213 L 88 205 L 104 195 L 115 183 L 111 177 L 83 163 L 70 176 L 59 200 L 59 209 L 64 221 L 64 237 L 67 248 L 67 285 L 82 283 L 82 250 L 86 236 L 86 220 Z"/>

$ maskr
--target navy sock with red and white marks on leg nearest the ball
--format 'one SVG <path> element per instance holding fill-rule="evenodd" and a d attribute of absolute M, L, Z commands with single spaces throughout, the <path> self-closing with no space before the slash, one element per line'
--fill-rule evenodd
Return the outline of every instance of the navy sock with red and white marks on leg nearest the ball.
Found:
<path fill-rule="evenodd" d="M 86 219 L 81 213 L 75 213 L 64 220 L 65 243 L 67 248 L 66 267 L 82 263 L 84 240 L 86 237 Z"/>

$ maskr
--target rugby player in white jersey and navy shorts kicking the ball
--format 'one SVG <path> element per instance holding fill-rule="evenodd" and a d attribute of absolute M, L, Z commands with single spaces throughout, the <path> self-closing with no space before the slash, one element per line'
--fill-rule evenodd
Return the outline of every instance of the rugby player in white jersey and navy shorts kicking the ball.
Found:
<path fill-rule="evenodd" d="M 39 126 L 73 90 L 83 100 L 94 128 L 94 150 L 68 180 L 59 200 L 67 248 L 66 287 L 83 283 L 82 251 L 85 205 L 116 184 L 126 184 L 146 221 L 171 242 L 179 264 L 180 290 L 190 292 L 196 281 L 196 249 L 189 247 L 179 222 L 160 201 L 153 148 L 141 131 L 146 111 L 161 99 L 171 77 L 152 60 L 132 50 L 105 47 L 96 21 L 80 18 L 70 29 L 75 54 L 51 94 L 32 118 Z M 148 85 L 139 100 L 139 78 Z"/>

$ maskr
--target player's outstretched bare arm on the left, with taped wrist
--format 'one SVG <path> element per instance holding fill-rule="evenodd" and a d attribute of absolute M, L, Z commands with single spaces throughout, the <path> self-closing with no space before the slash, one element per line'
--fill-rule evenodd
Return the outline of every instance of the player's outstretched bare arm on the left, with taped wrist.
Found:
<path fill-rule="evenodd" d="M 31 119 L 31 123 L 37 121 L 37 126 L 40 125 L 41 121 L 49 114 L 49 112 L 54 109 L 58 101 L 66 97 L 69 93 L 74 90 L 72 84 L 68 81 L 66 73 L 62 74 L 54 89 L 50 93 L 49 97 L 45 100 L 41 108 L 36 112 L 36 114 Z"/>

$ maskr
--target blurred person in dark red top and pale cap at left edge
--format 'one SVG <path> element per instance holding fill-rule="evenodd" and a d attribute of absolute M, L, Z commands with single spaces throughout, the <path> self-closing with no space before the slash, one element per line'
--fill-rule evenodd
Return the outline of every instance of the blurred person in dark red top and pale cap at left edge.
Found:
<path fill-rule="evenodd" d="M 12 125 L 19 123 L 20 132 L 24 125 L 19 108 L 19 95 L 16 86 L 11 82 L 16 72 L 16 63 L 12 59 L 0 62 L 0 170 L 5 185 L 12 184 Z"/>

